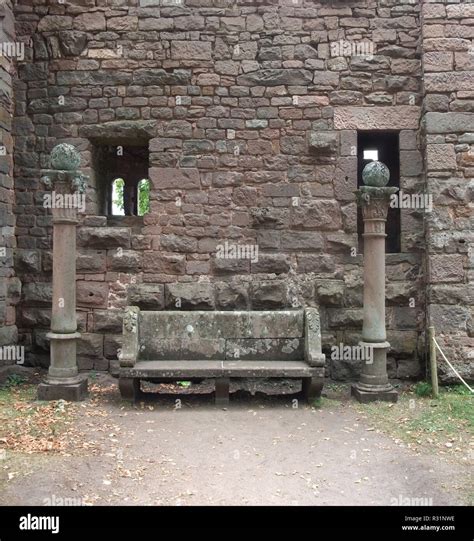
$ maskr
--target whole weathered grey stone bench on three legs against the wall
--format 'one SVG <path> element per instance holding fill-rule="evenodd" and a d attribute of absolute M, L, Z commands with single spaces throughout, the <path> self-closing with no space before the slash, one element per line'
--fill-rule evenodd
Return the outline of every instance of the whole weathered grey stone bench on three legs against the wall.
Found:
<path fill-rule="evenodd" d="M 325 356 L 316 308 L 282 311 L 141 311 L 126 308 L 119 388 L 136 400 L 140 380 L 213 378 L 216 403 L 229 379 L 298 378 L 308 401 L 321 395 Z"/>

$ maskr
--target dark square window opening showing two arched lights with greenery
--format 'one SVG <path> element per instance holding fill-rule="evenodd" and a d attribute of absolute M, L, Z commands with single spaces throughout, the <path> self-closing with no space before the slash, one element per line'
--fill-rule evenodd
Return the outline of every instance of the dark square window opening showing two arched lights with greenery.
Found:
<path fill-rule="evenodd" d="M 95 145 L 99 212 L 106 216 L 143 216 L 150 208 L 148 147 Z"/>

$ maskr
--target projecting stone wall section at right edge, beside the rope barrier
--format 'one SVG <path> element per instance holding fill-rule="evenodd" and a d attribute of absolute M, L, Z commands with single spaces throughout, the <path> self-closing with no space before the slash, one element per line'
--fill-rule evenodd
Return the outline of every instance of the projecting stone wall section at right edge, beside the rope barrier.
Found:
<path fill-rule="evenodd" d="M 423 5 L 428 321 L 461 374 L 474 370 L 474 4 Z M 443 379 L 453 380 L 444 362 Z"/>

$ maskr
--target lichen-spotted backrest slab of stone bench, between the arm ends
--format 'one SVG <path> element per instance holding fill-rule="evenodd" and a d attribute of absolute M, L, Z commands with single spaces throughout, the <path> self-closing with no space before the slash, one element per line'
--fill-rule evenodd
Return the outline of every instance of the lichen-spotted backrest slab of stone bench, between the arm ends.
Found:
<path fill-rule="evenodd" d="M 301 360 L 303 316 L 302 310 L 141 312 L 140 358 Z"/>

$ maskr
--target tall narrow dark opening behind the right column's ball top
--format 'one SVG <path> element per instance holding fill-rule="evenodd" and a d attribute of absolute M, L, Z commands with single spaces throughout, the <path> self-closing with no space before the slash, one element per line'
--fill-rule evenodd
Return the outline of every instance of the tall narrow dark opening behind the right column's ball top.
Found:
<path fill-rule="evenodd" d="M 400 151 L 398 132 L 379 132 L 379 131 L 361 131 L 357 134 L 357 186 L 361 186 L 362 171 L 371 161 L 378 160 L 383 162 L 390 170 L 390 180 L 388 186 L 400 187 Z M 357 232 L 359 234 L 359 251 L 362 250 L 364 231 L 364 222 L 362 220 L 362 211 L 357 209 Z M 385 249 L 387 253 L 400 252 L 400 209 L 388 209 L 387 237 L 385 240 Z"/>

